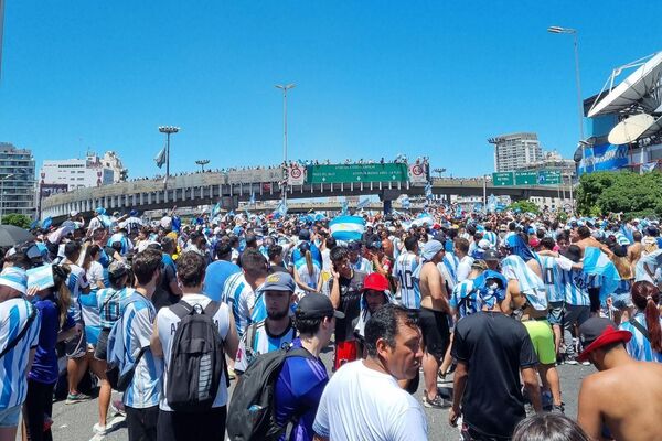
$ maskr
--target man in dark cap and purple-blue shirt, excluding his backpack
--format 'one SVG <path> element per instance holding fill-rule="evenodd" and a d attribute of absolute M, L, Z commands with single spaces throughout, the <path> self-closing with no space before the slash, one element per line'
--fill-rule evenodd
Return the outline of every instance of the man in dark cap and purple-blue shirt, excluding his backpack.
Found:
<path fill-rule="evenodd" d="M 278 424 L 295 420 L 289 440 L 312 441 L 312 423 L 324 391 L 329 375 L 320 352 L 327 347 L 335 327 L 335 319 L 344 318 L 335 311 L 328 297 L 310 293 L 299 301 L 295 311 L 295 324 L 299 337 L 292 347 L 302 347 L 314 359 L 286 358 L 274 390 L 274 417 Z"/>

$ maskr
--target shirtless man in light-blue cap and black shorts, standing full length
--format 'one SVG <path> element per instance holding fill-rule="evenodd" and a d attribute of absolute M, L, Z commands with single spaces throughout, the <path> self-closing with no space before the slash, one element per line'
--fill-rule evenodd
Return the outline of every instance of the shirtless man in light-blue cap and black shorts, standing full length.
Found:
<path fill-rule="evenodd" d="M 424 263 L 420 266 L 420 314 L 419 325 L 423 333 L 423 376 L 426 407 L 446 408 L 450 402 L 437 396 L 437 373 L 449 344 L 448 293 L 444 277 L 437 263 L 444 259 L 444 245 L 439 240 L 428 240 L 423 247 Z"/>

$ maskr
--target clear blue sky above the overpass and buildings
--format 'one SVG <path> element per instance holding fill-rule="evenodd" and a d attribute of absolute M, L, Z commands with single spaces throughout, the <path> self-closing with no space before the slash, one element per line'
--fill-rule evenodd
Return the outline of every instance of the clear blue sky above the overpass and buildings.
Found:
<path fill-rule="evenodd" d="M 159 125 L 178 125 L 172 169 L 290 158 L 429 155 L 491 172 L 487 138 L 535 131 L 569 157 L 584 96 L 618 65 L 662 50 L 662 2 L 6 0 L 0 141 L 44 159 L 115 150 L 158 173 Z"/>

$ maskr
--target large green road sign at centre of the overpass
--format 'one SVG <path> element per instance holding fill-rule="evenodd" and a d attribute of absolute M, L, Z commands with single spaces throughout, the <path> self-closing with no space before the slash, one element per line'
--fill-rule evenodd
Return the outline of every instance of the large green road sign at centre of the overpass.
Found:
<path fill-rule="evenodd" d="M 407 165 L 403 163 L 310 165 L 308 183 L 407 182 Z"/>

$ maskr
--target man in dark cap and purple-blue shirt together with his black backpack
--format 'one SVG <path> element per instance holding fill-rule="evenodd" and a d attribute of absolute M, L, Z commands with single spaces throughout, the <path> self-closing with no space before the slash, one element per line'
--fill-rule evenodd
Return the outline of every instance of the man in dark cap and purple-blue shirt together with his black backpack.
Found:
<path fill-rule="evenodd" d="M 295 313 L 300 337 L 291 347 L 257 356 L 237 384 L 227 420 L 233 441 L 311 441 L 312 423 L 329 375 L 320 352 L 335 329 L 335 311 L 328 297 L 306 295 Z"/>

